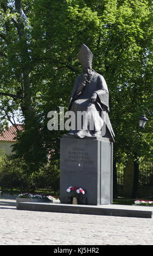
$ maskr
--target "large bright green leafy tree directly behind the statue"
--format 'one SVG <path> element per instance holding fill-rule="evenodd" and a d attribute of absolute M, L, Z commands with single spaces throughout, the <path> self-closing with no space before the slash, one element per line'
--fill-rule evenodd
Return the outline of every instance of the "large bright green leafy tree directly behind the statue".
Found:
<path fill-rule="evenodd" d="M 42 70 L 50 76 L 47 95 L 55 96 L 56 92 L 62 99 L 57 106 L 68 105 L 68 90 L 80 73 L 76 60 L 79 47 L 86 44 L 94 54 L 93 68 L 104 75 L 109 85 L 110 118 L 116 133 L 114 170 L 116 162 L 125 162 L 125 158 L 137 162 L 139 156 L 151 155 L 152 123 L 146 133 L 138 127 L 144 106 L 152 106 L 151 1 L 78 0 L 49 6 L 48 1 L 42 1 L 40 5 L 43 44 L 47 48 L 50 43 L 46 59 L 56 67 L 48 70 L 49 65 L 44 65 Z M 57 86 L 53 92 L 54 84 Z M 50 108 L 55 106 L 52 103 Z"/>

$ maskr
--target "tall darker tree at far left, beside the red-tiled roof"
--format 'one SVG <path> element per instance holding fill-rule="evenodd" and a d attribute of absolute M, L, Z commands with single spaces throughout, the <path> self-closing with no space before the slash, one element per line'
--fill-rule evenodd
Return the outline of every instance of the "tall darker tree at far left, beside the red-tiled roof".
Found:
<path fill-rule="evenodd" d="M 26 1 L 23 1 L 27 6 Z M 30 7 L 30 1 L 29 1 Z M 18 133 L 14 150 L 27 161 L 28 171 L 47 162 L 41 136 L 41 124 L 33 103 L 31 72 L 35 63 L 30 56 L 30 23 L 22 9 L 22 1 L 1 1 L 1 115 L 10 120 L 10 113 L 20 109 L 24 132 Z M 17 126 L 14 124 L 17 128 Z"/>

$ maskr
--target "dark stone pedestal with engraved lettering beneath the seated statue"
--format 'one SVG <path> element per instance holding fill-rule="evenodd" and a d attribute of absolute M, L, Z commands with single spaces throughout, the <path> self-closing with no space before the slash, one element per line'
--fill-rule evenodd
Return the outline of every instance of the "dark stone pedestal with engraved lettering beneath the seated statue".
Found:
<path fill-rule="evenodd" d="M 69 203 L 69 186 L 85 190 L 83 203 L 112 203 L 113 143 L 108 138 L 61 138 L 60 200 Z"/>

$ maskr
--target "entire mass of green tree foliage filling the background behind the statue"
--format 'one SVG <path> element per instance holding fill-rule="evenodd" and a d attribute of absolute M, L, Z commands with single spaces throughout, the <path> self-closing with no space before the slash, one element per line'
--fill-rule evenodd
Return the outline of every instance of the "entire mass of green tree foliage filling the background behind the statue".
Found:
<path fill-rule="evenodd" d="M 153 105 L 152 1 L 24 0 L 24 16 L 17 2 L 0 4 L 0 93 L 14 95 L 1 96 L 0 115 L 5 121 L 20 110 L 25 132 L 15 152 L 29 175 L 46 166 L 48 154 L 50 164 L 59 159 L 64 131 L 47 130 L 47 113 L 67 109 L 82 43 L 109 87 L 114 159 L 150 157 L 152 120 L 140 131 L 138 117 Z"/>

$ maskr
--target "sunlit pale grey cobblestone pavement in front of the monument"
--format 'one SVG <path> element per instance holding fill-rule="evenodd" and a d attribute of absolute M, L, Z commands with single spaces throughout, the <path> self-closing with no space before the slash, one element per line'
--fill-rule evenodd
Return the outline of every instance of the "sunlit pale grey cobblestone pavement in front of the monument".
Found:
<path fill-rule="evenodd" d="M 21 211 L 0 197 L 0 245 L 153 245 L 153 219 Z"/>

